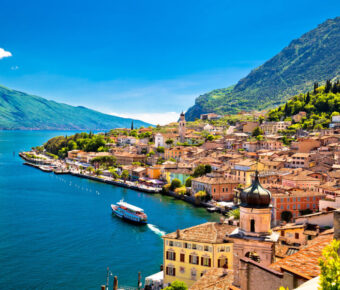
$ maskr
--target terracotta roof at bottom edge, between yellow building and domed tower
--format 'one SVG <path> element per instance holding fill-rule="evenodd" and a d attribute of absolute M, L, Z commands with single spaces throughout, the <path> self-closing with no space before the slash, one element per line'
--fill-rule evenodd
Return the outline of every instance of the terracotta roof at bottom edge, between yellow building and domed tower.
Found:
<path fill-rule="evenodd" d="M 227 270 L 224 274 L 222 268 L 212 268 L 208 270 L 198 281 L 195 282 L 190 290 L 229 290 L 232 289 L 234 275 L 232 270 Z"/>

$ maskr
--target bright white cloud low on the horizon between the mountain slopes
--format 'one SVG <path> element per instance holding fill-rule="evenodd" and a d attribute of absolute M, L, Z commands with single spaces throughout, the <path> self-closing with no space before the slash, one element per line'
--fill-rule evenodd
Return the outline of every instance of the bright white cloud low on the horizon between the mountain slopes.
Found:
<path fill-rule="evenodd" d="M 123 118 L 133 118 L 142 120 L 154 125 L 166 125 L 171 122 L 176 122 L 179 118 L 179 113 L 164 112 L 164 113 L 111 113 L 111 115 Z"/>

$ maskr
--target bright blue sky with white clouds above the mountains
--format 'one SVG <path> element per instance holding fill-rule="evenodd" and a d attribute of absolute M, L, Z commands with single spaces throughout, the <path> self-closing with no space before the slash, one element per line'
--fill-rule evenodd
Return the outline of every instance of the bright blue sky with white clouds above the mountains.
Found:
<path fill-rule="evenodd" d="M 339 12 L 332 0 L 1 0 L 0 84 L 164 124 Z"/>

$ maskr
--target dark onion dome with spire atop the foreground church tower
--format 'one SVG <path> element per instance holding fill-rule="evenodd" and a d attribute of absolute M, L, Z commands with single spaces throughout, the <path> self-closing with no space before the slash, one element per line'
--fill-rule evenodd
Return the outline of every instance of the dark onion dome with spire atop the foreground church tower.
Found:
<path fill-rule="evenodd" d="M 251 186 L 242 190 L 241 192 L 242 207 L 251 208 L 266 208 L 271 202 L 271 193 L 269 190 L 263 188 L 259 181 L 258 171 L 255 172 L 255 180 Z"/>

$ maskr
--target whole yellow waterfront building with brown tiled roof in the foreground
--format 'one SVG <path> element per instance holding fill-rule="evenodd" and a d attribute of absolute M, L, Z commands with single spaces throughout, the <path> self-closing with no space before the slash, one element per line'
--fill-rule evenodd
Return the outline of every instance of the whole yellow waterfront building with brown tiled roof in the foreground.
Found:
<path fill-rule="evenodd" d="M 193 285 L 211 268 L 232 269 L 233 244 L 225 223 L 204 223 L 163 236 L 164 285 L 175 280 Z"/>

